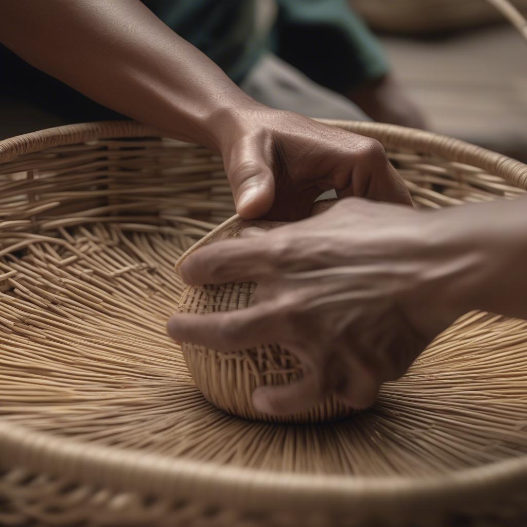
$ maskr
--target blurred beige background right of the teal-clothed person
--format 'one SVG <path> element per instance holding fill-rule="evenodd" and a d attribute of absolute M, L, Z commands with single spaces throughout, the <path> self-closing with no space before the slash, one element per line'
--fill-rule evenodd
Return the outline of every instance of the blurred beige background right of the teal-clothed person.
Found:
<path fill-rule="evenodd" d="M 513 0 L 525 14 L 527 1 Z M 430 128 L 527 160 L 527 46 L 482 0 L 352 0 Z"/>

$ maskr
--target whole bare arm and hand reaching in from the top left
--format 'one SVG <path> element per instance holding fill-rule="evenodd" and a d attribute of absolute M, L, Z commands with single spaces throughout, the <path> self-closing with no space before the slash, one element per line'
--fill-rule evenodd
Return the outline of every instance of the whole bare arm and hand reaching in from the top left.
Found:
<path fill-rule="evenodd" d="M 91 99 L 223 156 L 246 218 L 306 216 L 323 190 L 411 203 L 374 140 L 253 101 L 139 0 L 0 0 L 0 41 Z"/>

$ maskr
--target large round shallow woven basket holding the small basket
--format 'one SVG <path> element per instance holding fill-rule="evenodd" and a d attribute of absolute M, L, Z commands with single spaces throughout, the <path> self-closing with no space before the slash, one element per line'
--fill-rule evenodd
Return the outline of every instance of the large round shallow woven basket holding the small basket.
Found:
<path fill-rule="evenodd" d="M 527 187 L 470 144 L 331 124 L 381 141 L 420 207 Z M 221 159 L 115 122 L 0 163 L 1 525 L 527 524 L 527 322 L 464 316 L 338 423 L 245 421 L 165 335 L 174 262 L 234 211 Z"/>

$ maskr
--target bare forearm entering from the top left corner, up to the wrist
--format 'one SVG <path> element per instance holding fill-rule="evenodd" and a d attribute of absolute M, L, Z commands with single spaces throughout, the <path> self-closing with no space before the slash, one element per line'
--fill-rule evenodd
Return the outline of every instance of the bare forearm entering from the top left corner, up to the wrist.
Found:
<path fill-rule="evenodd" d="M 0 0 L 0 41 L 91 99 L 218 147 L 221 116 L 255 104 L 139 0 Z"/>

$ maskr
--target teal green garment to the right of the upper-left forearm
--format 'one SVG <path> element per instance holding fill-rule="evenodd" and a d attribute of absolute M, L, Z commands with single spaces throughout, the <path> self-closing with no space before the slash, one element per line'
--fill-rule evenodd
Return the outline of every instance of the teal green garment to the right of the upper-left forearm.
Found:
<path fill-rule="evenodd" d="M 382 48 L 347 0 L 276 0 L 277 19 L 265 37 L 255 36 L 255 0 L 143 2 L 236 83 L 268 51 L 340 93 L 388 71 Z"/>

